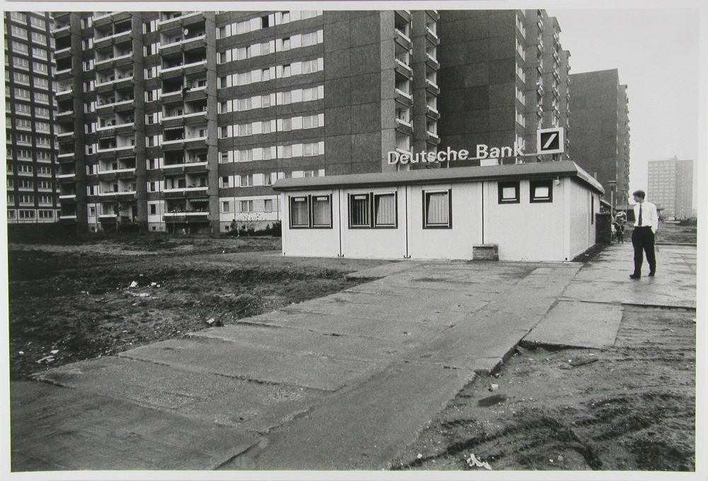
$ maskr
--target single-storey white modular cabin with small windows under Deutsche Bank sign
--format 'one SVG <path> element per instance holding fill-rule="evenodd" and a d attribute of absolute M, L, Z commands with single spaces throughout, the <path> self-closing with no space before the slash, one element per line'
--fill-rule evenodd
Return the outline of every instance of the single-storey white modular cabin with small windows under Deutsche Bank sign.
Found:
<path fill-rule="evenodd" d="M 603 187 L 574 162 L 281 179 L 282 254 L 570 261 L 595 244 Z"/>

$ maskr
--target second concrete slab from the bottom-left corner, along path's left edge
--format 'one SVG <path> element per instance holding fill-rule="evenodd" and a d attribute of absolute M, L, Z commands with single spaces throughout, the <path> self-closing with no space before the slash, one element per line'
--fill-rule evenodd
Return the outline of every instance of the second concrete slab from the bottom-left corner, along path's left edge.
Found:
<path fill-rule="evenodd" d="M 291 419 L 324 395 L 303 387 L 253 383 L 115 356 L 68 364 L 34 378 L 258 432 Z"/>

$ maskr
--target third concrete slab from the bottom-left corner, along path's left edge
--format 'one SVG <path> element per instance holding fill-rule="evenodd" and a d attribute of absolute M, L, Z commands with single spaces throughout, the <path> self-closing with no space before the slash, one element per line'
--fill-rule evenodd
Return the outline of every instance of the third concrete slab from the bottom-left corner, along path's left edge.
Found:
<path fill-rule="evenodd" d="M 121 357 L 162 363 L 195 373 L 334 391 L 353 383 L 375 364 L 315 353 L 252 346 L 220 339 L 173 339 L 120 353 Z"/>

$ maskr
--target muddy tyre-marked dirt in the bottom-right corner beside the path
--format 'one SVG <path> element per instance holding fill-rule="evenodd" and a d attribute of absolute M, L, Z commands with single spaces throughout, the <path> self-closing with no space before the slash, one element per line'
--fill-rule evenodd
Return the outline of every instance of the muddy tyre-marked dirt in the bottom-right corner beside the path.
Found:
<path fill-rule="evenodd" d="M 610 349 L 519 348 L 394 469 L 692 471 L 694 420 L 695 312 L 629 307 Z"/>

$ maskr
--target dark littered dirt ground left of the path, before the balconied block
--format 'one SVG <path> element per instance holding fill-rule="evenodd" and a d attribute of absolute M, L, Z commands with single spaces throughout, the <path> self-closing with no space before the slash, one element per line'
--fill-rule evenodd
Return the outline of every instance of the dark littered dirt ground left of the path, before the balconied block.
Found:
<path fill-rule="evenodd" d="M 328 295 L 383 264 L 284 258 L 280 239 L 152 242 L 11 244 L 11 379 Z"/>

